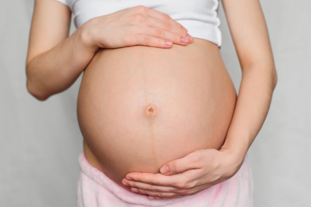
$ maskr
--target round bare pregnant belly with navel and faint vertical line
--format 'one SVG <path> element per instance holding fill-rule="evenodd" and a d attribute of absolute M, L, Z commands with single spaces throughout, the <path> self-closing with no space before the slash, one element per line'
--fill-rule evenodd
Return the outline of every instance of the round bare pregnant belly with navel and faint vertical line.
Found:
<path fill-rule="evenodd" d="M 98 51 L 84 71 L 78 122 L 86 159 L 121 185 L 129 172 L 219 149 L 236 94 L 216 45 Z"/>

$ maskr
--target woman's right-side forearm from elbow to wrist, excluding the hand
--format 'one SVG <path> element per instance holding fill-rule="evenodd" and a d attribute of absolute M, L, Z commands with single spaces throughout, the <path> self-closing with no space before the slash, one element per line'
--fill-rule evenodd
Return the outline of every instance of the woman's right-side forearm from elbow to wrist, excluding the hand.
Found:
<path fill-rule="evenodd" d="M 274 64 L 245 68 L 226 141 L 222 150 L 243 159 L 267 116 L 276 85 Z"/>

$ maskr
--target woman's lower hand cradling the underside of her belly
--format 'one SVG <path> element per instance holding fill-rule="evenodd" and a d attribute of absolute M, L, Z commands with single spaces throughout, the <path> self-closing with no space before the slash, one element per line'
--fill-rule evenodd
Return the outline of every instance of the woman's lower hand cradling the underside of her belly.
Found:
<path fill-rule="evenodd" d="M 167 162 L 161 173 L 131 172 L 122 180 L 133 192 L 150 199 L 172 199 L 199 193 L 231 178 L 242 165 L 244 156 L 229 150 L 206 149 Z"/>

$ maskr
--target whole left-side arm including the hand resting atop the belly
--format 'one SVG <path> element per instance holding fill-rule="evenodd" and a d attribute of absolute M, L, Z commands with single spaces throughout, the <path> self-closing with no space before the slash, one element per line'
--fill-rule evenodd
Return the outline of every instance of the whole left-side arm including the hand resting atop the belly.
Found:
<path fill-rule="evenodd" d="M 98 48 L 170 48 L 192 37 L 168 15 L 144 6 L 93 18 L 68 37 L 71 12 L 55 0 L 35 0 L 26 63 L 28 91 L 39 100 L 70 87 Z"/>

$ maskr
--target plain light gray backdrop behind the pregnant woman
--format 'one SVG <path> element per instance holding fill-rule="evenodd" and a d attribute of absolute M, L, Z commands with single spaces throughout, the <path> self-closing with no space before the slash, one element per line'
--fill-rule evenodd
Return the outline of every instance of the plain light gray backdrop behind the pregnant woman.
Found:
<path fill-rule="evenodd" d="M 249 150 L 256 207 L 311 207 L 311 1 L 261 0 L 278 85 Z M 33 0 L 0 0 L 0 207 L 74 207 L 82 150 L 80 79 L 45 102 L 25 88 Z M 223 10 L 221 52 L 240 80 Z M 254 50 L 256 50 L 254 48 Z"/>

